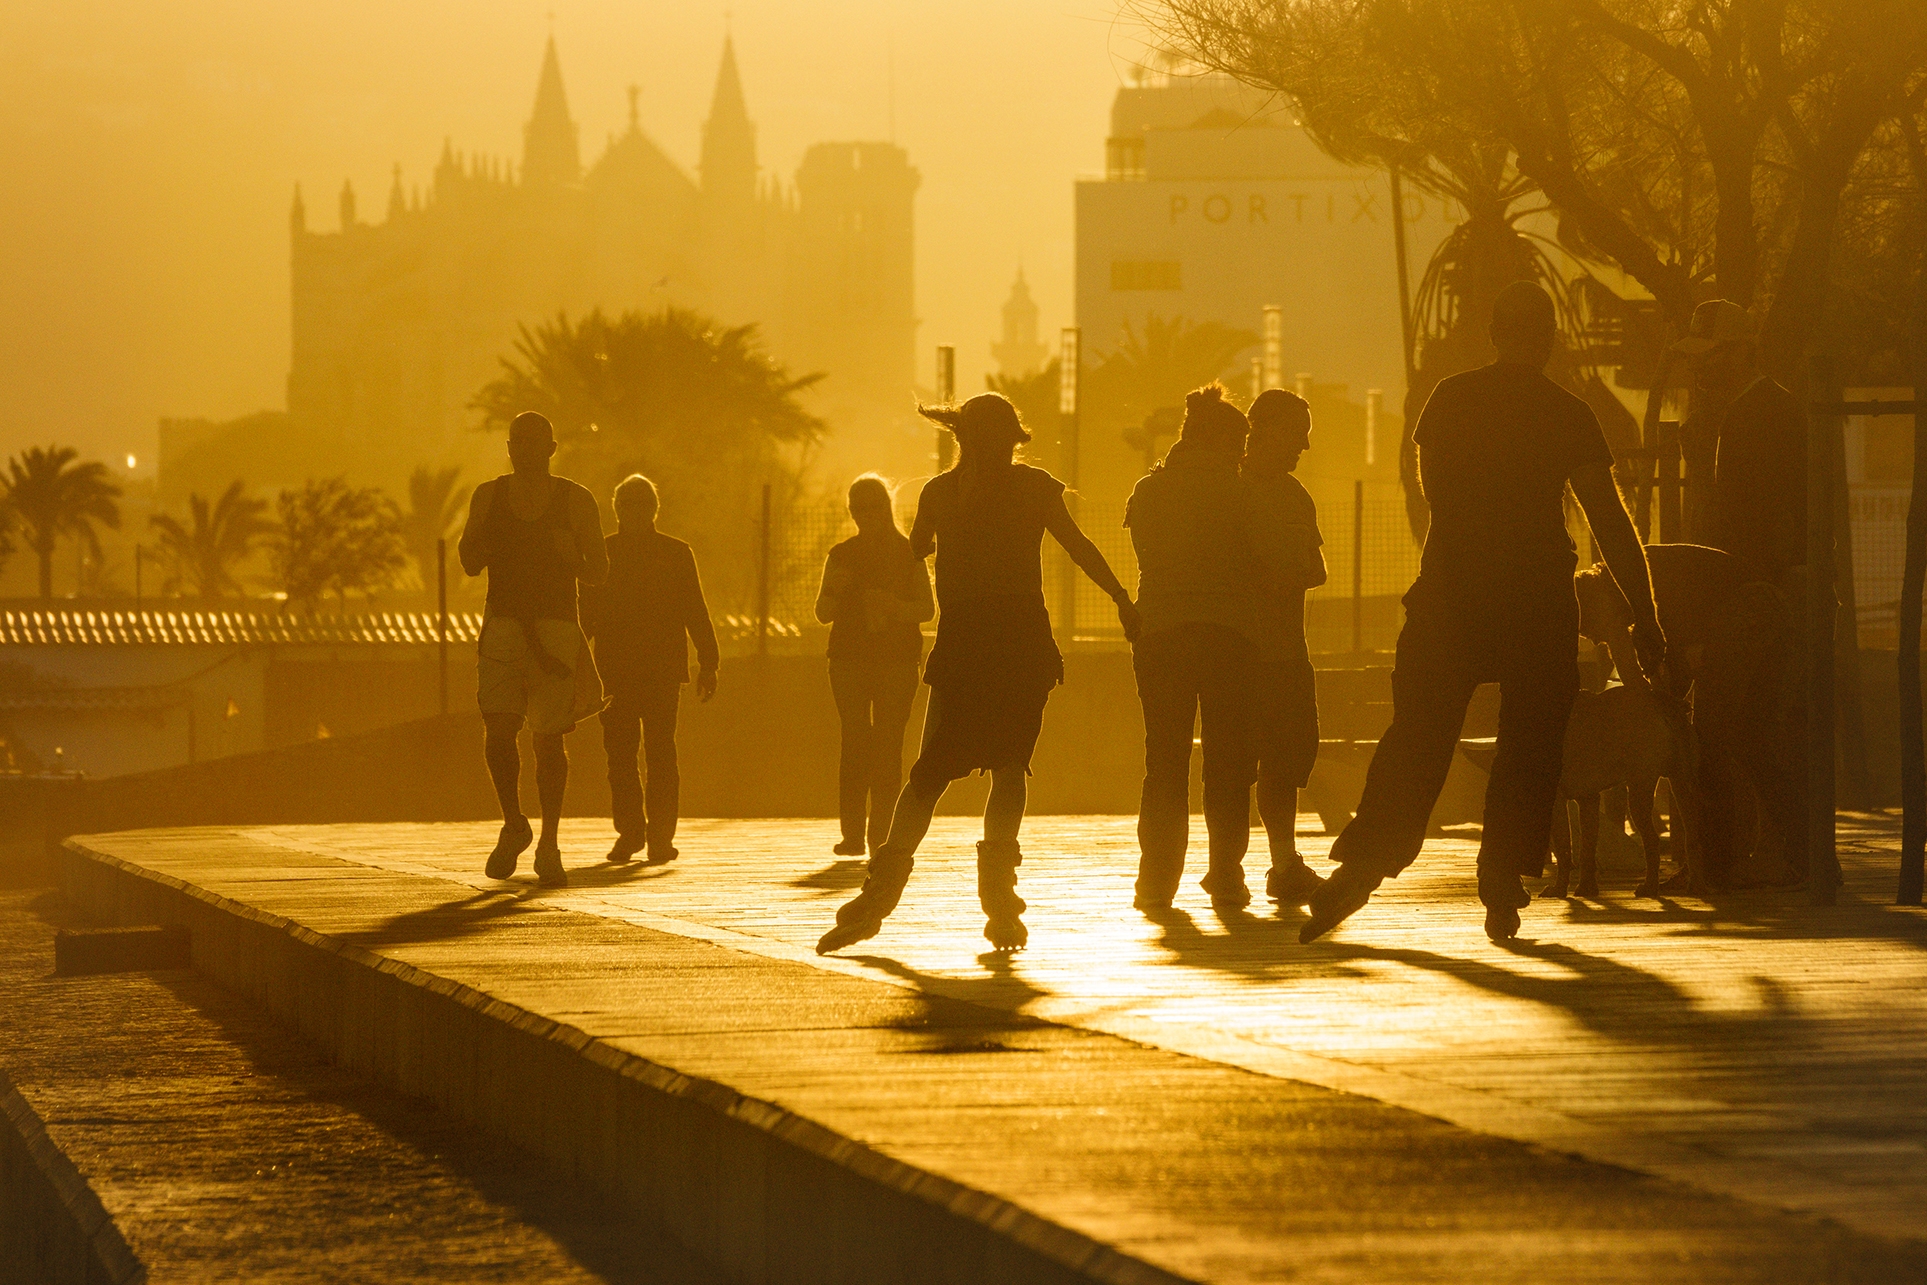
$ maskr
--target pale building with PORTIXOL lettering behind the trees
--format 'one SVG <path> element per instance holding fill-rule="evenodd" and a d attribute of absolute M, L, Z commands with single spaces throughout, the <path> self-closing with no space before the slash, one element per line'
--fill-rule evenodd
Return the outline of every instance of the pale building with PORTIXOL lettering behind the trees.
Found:
<path fill-rule="evenodd" d="M 1405 220 L 1416 289 L 1453 218 L 1407 189 Z M 1343 480 L 1349 495 L 1353 478 L 1395 478 L 1405 364 L 1387 175 L 1333 162 L 1266 94 L 1227 77 L 1118 91 L 1106 173 L 1077 183 L 1075 289 L 1091 360 L 1147 316 L 1262 333 L 1264 308 L 1281 306 L 1278 383 L 1308 374 L 1320 412 L 1307 480 Z M 1241 397 L 1256 354 L 1224 374 Z M 1384 393 L 1372 468 L 1368 389 Z M 1087 495 L 1122 493 L 1141 464 L 1114 428 L 1085 433 Z"/>

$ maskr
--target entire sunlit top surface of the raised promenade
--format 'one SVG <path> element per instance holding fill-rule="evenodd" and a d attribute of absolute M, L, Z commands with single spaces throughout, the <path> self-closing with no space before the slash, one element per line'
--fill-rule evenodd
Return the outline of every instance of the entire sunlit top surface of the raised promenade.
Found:
<path fill-rule="evenodd" d="M 1844 821 L 1833 909 L 1609 877 L 1513 948 L 1441 840 L 1301 948 L 1191 884 L 1131 911 L 1131 819 L 1033 819 L 1014 959 L 952 819 L 844 959 L 811 952 L 861 877 L 825 821 L 686 823 L 667 867 L 576 821 L 557 892 L 484 879 L 491 826 L 77 846 L 985 1193 L 1095 1279 L 1927 1279 L 1927 919 L 1883 904 L 1888 830 Z"/>

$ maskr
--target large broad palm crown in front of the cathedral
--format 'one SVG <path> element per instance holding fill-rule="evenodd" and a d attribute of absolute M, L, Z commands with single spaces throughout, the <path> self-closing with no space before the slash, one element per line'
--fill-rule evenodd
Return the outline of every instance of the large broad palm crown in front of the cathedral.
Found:
<path fill-rule="evenodd" d="M 740 572 L 730 593 L 742 595 L 753 576 L 736 555 L 750 547 L 763 484 L 773 485 L 779 520 L 805 489 L 809 449 L 825 426 L 798 395 L 821 380 L 771 358 L 755 326 L 686 308 L 590 312 L 524 326 L 515 356 L 472 405 L 495 432 L 522 410 L 549 416 L 557 472 L 603 507 L 626 474 L 653 478 L 663 526 L 698 553 L 730 559 L 717 570 Z"/>

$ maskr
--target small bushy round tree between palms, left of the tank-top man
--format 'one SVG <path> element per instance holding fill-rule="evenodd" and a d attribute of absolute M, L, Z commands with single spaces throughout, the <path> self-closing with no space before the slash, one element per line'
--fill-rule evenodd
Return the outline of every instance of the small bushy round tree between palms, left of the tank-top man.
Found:
<path fill-rule="evenodd" d="M 274 507 L 274 576 L 293 603 L 333 593 L 347 611 L 349 593 L 385 588 L 405 566 L 401 511 L 378 487 L 328 478 L 281 491 Z"/>

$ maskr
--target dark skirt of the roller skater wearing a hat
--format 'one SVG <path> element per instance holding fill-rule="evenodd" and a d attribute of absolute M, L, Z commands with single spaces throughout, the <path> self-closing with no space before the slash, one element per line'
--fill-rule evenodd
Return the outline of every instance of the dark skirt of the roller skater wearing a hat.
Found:
<path fill-rule="evenodd" d="M 923 667 L 931 686 L 917 769 L 956 780 L 975 771 L 1029 771 L 1064 657 L 1043 595 L 946 603 Z"/>

